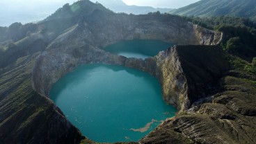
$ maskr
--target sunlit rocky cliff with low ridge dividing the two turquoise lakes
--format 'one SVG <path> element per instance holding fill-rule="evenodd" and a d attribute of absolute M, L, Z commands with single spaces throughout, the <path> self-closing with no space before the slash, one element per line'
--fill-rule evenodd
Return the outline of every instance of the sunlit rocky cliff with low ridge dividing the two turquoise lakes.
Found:
<path fill-rule="evenodd" d="M 163 100 L 168 104 L 181 111 L 191 106 L 188 98 L 189 87 L 179 60 L 177 46 L 145 60 L 130 58 L 125 61 L 125 66 L 154 75 L 161 84 Z"/>

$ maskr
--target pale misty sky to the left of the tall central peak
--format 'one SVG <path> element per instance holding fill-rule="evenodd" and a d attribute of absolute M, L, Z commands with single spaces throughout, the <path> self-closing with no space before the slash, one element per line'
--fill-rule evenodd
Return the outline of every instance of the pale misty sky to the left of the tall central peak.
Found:
<path fill-rule="evenodd" d="M 70 0 L 69 0 L 70 1 Z M 73 3 L 73 1 L 72 1 Z M 12 3 L 0 1 L 0 26 L 10 26 L 15 22 L 22 24 L 37 22 L 51 15 L 63 6 L 63 1 L 26 1 Z"/>

